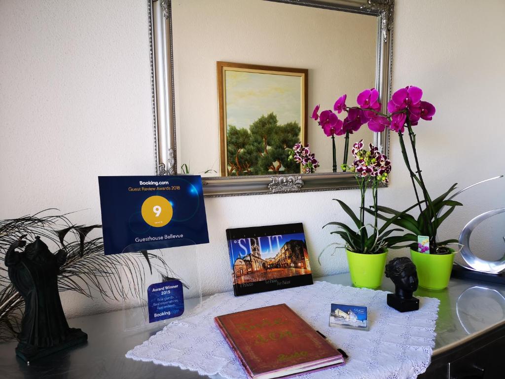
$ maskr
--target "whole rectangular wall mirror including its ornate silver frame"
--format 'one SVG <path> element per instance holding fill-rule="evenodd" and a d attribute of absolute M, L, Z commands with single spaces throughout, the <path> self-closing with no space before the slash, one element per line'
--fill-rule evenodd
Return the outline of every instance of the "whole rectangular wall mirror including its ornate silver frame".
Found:
<path fill-rule="evenodd" d="M 347 94 L 390 91 L 393 1 L 149 3 L 155 167 L 204 177 L 206 196 L 354 187 L 344 136 L 311 119 Z M 340 118 L 343 118 L 342 115 Z M 349 136 L 388 152 L 387 131 Z M 289 159 L 309 144 L 319 167 Z M 349 149 L 350 150 L 350 149 Z M 350 153 L 349 153 L 350 155 Z M 352 158 L 348 158 L 352 161 Z"/>

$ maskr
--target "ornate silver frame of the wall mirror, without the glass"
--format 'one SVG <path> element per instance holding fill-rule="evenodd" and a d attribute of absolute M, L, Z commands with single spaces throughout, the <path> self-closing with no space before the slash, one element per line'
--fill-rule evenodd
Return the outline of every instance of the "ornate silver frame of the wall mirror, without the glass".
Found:
<path fill-rule="evenodd" d="M 268 0 L 328 10 L 378 17 L 376 88 L 383 111 L 391 92 L 392 31 L 394 0 Z M 154 166 L 157 175 L 177 174 L 176 133 L 173 83 L 173 45 L 171 0 L 147 0 L 149 14 L 149 50 L 151 97 L 153 101 Z M 389 152 L 389 132 L 375 133 L 374 143 Z M 356 188 L 350 173 L 300 175 L 258 175 L 204 178 L 208 197 L 329 191 Z"/>

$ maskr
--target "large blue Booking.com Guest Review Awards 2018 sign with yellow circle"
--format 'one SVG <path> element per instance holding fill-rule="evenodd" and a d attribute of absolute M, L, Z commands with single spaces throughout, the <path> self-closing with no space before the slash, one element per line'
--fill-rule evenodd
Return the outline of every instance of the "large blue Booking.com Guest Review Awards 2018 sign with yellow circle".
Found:
<path fill-rule="evenodd" d="M 209 243 L 201 177 L 99 176 L 105 254 Z"/>

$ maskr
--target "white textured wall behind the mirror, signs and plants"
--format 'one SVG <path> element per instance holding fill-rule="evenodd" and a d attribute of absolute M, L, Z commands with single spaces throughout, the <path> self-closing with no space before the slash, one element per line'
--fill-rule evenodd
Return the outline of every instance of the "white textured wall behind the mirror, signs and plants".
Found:
<path fill-rule="evenodd" d="M 492 3 L 492 4 L 491 4 Z M 505 171 L 505 95 L 499 38 L 505 3 L 398 1 L 393 87 L 416 84 L 437 107 L 416 127 L 423 174 L 433 194 Z M 82 210 L 76 223 L 100 222 L 98 175 L 153 171 L 147 13 L 144 1 L 0 1 L 0 217 L 58 207 Z M 413 202 L 395 135 L 392 183 L 380 202 Z M 505 206 L 505 179 L 461 198 L 466 206 L 443 225 L 457 237 L 467 220 Z M 321 227 L 346 218 L 331 199 L 357 207 L 357 191 L 206 199 L 210 244 L 199 247 L 208 293 L 231 290 L 224 229 L 304 222 L 316 276 L 347 271 L 344 255 L 317 255 L 333 242 Z M 483 224 L 487 257 L 503 252 L 505 218 Z M 188 262 L 191 257 L 188 257 Z M 68 315 L 118 308 L 75 294 Z"/>

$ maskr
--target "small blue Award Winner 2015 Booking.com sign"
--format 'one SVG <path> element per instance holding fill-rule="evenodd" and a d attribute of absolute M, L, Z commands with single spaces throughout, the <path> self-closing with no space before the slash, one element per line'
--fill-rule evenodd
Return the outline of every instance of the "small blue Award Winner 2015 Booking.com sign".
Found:
<path fill-rule="evenodd" d="M 184 313 L 182 283 L 170 280 L 155 283 L 147 288 L 149 322 L 166 320 Z"/>

